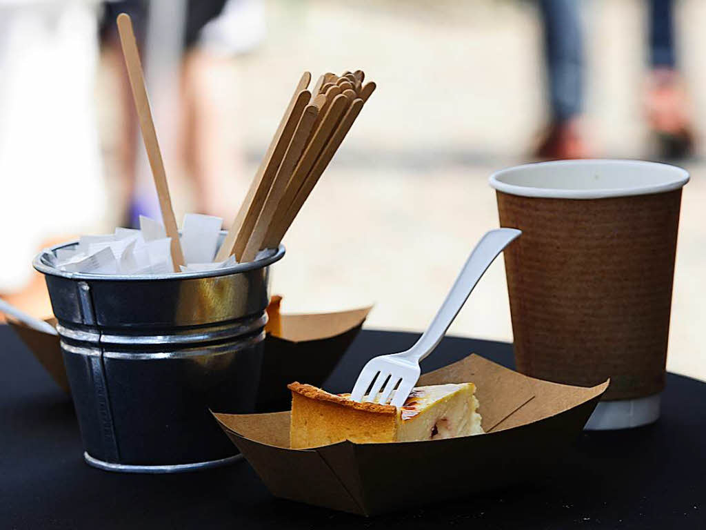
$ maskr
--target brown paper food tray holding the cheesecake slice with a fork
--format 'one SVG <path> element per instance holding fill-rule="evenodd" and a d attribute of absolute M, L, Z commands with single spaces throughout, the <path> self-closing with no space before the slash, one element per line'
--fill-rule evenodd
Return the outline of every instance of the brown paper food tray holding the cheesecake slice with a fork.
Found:
<path fill-rule="evenodd" d="M 608 387 L 532 379 L 469 355 L 419 379 L 472 381 L 486 434 L 289 449 L 289 412 L 214 416 L 276 497 L 361 515 L 532 479 L 568 449 Z"/>

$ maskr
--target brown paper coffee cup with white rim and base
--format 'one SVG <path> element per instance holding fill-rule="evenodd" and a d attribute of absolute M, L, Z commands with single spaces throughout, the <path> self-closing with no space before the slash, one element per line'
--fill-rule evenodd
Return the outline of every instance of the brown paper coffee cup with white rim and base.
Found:
<path fill-rule="evenodd" d="M 685 170 L 638 160 L 563 160 L 491 175 L 503 227 L 520 372 L 611 384 L 587 429 L 659 418 Z"/>

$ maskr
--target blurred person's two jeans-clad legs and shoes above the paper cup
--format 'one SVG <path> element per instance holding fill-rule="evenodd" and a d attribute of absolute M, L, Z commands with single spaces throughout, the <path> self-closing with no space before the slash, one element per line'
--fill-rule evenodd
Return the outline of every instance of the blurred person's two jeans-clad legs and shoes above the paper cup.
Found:
<path fill-rule="evenodd" d="M 661 158 L 683 158 L 693 148 L 688 98 L 674 51 L 672 0 L 648 0 L 650 80 L 645 112 Z M 584 68 L 580 0 L 539 0 L 544 23 L 551 119 L 535 151 L 539 158 L 585 158 L 580 131 Z"/>

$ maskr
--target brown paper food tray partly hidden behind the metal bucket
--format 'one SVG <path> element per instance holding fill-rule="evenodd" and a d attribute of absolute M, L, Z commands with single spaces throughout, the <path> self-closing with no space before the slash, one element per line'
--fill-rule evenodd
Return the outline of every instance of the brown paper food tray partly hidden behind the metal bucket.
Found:
<path fill-rule="evenodd" d="M 358 335 L 372 306 L 360 309 L 311 314 L 278 314 L 280 326 L 265 338 L 265 356 L 258 391 L 259 411 L 289 408 L 287 384 L 296 379 L 321 385 L 333 372 L 343 354 Z M 270 312 L 270 310 L 268 310 Z M 273 313 L 270 312 L 270 318 Z M 56 326 L 56 319 L 45 319 Z M 8 324 L 32 351 L 44 370 L 66 394 L 71 394 L 61 356 L 59 336 L 42 333 L 21 322 Z"/>

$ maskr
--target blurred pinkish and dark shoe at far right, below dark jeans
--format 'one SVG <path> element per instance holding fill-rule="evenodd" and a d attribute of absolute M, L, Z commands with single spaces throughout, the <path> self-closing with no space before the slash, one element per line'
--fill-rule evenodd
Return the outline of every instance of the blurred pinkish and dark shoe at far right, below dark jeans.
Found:
<path fill-rule="evenodd" d="M 686 90 L 670 69 L 652 72 L 645 97 L 645 112 L 659 158 L 687 158 L 694 150 L 694 130 Z"/>

